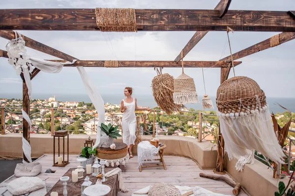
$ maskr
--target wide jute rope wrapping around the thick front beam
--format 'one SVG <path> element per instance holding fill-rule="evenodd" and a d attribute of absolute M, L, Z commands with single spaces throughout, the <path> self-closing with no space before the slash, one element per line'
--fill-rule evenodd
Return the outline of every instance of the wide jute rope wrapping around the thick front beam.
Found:
<path fill-rule="evenodd" d="M 101 31 L 137 32 L 135 9 L 96 8 L 95 15 Z"/>

